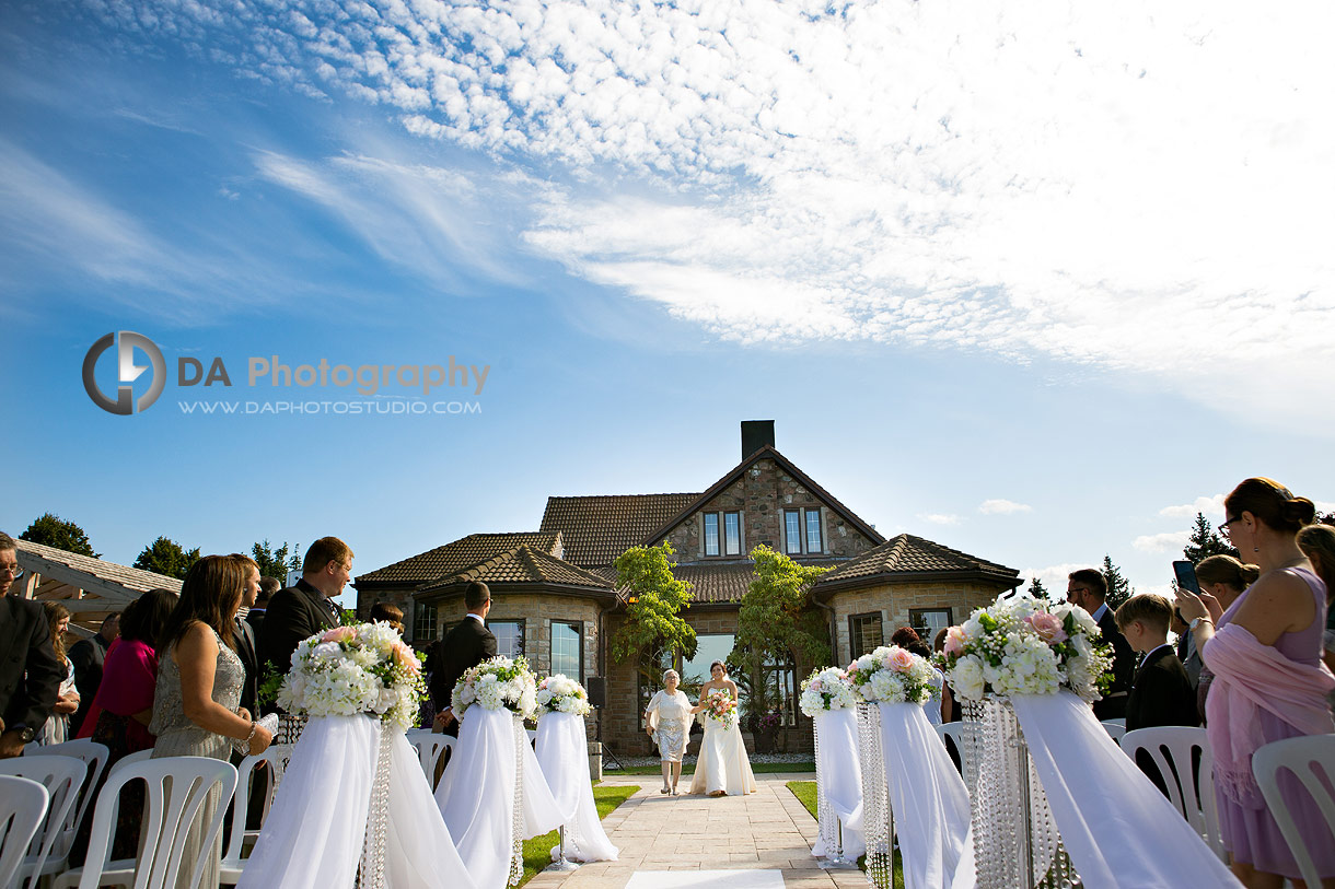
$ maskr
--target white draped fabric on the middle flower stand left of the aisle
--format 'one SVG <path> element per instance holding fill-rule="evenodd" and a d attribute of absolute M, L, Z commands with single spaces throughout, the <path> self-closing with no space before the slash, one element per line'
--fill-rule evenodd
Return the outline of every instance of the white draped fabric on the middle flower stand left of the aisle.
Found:
<path fill-rule="evenodd" d="M 561 825 L 561 810 L 529 744 L 523 756 L 523 840 Z M 514 714 L 469 707 L 435 802 L 477 889 L 503 889 L 514 848 Z"/>

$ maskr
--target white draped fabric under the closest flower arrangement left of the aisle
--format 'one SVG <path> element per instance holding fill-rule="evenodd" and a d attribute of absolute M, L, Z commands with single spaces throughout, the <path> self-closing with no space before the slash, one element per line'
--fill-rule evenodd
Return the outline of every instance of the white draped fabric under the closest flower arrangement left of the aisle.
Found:
<path fill-rule="evenodd" d="M 292 749 L 274 806 L 242 872 L 242 889 L 351 889 L 366 837 L 380 723 L 311 719 Z M 445 829 L 422 766 L 402 731 L 392 738 L 386 885 L 474 889 Z M 430 860 L 415 861 L 430 849 Z"/>

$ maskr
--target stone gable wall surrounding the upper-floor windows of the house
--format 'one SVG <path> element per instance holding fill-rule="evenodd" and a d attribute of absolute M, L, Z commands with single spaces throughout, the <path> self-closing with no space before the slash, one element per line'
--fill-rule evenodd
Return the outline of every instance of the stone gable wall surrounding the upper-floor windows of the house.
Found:
<path fill-rule="evenodd" d="M 745 558 L 753 547 L 764 543 L 784 551 L 784 510 L 821 510 L 821 553 L 802 553 L 804 557 L 853 557 L 876 546 L 841 515 L 816 499 L 797 479 L 772 458 L 762 458 L 748 467 L 741 478 L 709 499 L 694 515 L 688 517 L 665 538 L 677 551 L 677 561 L 696 562 L 705 557 L 704 513 L 742 513 L 741 554 L 721 558 Z M 720 521 L 720 551 L 722 551 L 722 521 Z M 713 559 L 714 557 L 709 557 Z"/>

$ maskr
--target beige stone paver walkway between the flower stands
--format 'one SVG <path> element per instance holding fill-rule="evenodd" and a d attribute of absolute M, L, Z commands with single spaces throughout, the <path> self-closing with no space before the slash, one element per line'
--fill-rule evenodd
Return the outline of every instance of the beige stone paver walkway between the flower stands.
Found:
<path fill-rule="evenodd" d="M 785 786 L 812 773 L 758 774 L 745 797 L 665 797 L 658 776 L 607 777 L 605 785 L 643 789 L 602 825 L 621 850 L 617 861 L 570 873 L 539 873 L 529 889 L 623 889 L 645 870 L 764 869 L 782 873 L 785 889 L 866 889 L 860 870 L 821 870 L 812 857 L 816 820 Z M 689 777 L 682 778 L 688 784 Z"/>

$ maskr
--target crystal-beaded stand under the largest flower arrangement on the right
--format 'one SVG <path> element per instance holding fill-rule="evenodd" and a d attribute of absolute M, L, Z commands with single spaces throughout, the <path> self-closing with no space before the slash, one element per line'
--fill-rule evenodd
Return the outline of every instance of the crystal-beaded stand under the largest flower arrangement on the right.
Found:
<path fill-rule="evenodd" d="M 972 820 L 979 889 L 1081 885 L 1061 845 L 1011 703 L 989 694 L 983 701 L 961 701 L 961 706 L 964 721 L 973 729 L 964 733 L 965 761 L 977 764 L 977 776 L 969 784 L 975 789 Z"/>

